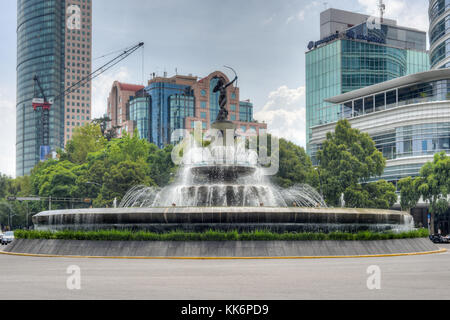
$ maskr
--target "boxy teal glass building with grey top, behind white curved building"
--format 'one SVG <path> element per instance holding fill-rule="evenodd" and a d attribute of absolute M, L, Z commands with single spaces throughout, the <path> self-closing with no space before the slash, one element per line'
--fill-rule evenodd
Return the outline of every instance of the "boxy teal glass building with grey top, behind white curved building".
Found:
<path fill-rule="evenodd" d="M 306 53 L 307 150 L 312 128 L 334 122 L 341 109 L 327 98 L 405 75 L 429 70 L 426 33 L 336 9 L 321 14 L 320 41 Z"/>

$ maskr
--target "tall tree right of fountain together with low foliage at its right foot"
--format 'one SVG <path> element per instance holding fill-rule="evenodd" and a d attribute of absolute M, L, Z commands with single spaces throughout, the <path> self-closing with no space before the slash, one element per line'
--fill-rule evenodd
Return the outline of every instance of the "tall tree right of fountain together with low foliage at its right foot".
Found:
<path fill-rule="evenodd" d="M 348 207 L 388 209 L 395 203 L 395 188 L 385 181 L 369 183 L 380 176 L 386 159 L 367 133 L 352 129 L 347 120 L 337 123 L 317 153 L 325 200 L 339 206 L 341 194 Z"/>

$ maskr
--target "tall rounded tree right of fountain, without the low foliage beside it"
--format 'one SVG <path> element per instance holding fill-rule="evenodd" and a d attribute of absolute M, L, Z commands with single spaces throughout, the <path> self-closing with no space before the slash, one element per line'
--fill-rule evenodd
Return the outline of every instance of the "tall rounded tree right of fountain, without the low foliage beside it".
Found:
<path fill-rule="evenodd" d="M 347 120 L 340 120 L 335 132 L 327 134 L 317 159 L 323 193 L 331 206 L 339 205 L 342 193 L 352 194 L 352 197 L 362 196 L 355 192 L 361 190 L 358 184 L 380 176 L 386 166 L 386 159 L 376 149 L 370 136 L 352 129 Z"/>

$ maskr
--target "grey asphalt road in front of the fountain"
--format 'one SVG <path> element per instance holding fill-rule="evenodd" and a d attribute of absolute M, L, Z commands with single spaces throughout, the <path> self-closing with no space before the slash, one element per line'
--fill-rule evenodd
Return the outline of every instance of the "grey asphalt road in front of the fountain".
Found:
<path fill-rule="evenodd" d="M 450 246 L 442 247 L 450 250 Z M 78 266 L 80 290 L 67 288 Z M 381 289 L 367 287 L 378 266 Z M 0 299 L 449 299 L 450 253 L 325 260 L 112 260 L 0 255 Z"/>

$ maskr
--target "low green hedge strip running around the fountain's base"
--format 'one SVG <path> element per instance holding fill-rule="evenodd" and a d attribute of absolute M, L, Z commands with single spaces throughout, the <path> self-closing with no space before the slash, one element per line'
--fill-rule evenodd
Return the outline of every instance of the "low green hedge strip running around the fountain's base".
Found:
<path fill-rule="evenodd" d="M 427 229 L 410 232 L 370 232 L 359 233 L 274 233 L 258 230 L 253 232 L 214 231 L 203 233 L 172 231 L 168 233 L 152 233 L 145 231 L 101 230 L 101 231 L 25 231 L 15 232 L 17 239 L 57 239 L 57 240 L 94 240 L 94 241 L 313 241 L 313 240 L 391 240 L 427 238 Z"/>

